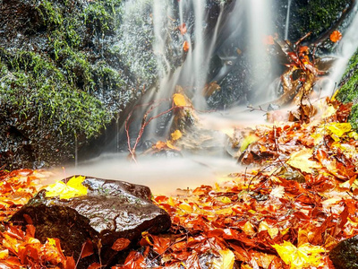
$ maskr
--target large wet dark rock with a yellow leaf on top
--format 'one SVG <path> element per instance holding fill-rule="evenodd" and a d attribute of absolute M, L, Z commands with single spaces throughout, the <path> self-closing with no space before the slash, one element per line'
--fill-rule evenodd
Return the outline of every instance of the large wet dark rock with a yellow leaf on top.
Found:
<path fill-rule="evenodd" d="M 46 190 L 40 191 L 11 221 L 26 225 L 29 215 L 36 238 L 41 242 L 60 239 L 64 254 L 75 260 L 82 244 L 90 239 L 102 264 L 108 266 L 118 256 L 111 248 L 116 239 L 129 239 L 133 244 L 142 231 L 158 234 L 171 225 L 169 215 L 151 203 L 149 187 L 99 178 L 86 178 L 82 185 L 88 187 L 88 195 L 68 200 L 46 197 Z M 93 262 L 98 262 L 97 255 L 81 259 L 77 268 Z"/>

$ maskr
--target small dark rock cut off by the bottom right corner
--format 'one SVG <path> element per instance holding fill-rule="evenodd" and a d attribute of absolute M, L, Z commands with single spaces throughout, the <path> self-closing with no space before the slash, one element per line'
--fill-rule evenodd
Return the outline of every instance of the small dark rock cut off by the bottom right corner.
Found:
<path fill-rule="evenodd" d="M 358 236 L 339 242 L 329 258 L 337 269 L 358 269 Z"/>

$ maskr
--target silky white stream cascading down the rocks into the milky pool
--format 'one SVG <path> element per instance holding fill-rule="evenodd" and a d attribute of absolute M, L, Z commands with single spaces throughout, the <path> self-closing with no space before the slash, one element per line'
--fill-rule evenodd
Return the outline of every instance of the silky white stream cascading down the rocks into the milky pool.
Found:
<path fill-rule="evenodd" d="M 141 0 L 144 1 L 144 0 Z M 125 4 L 126 16 L 131 16 L 133 10 L 133 4 L 141 6 L 141 1 L 127 1 Z M 90 161 L 82 161 L 75 166 L 67 165 L 63 169 L 55 169 L 55 178 L 69 177 L 75 174 L 90 175 L 97 178 L 111 178 L 129 181 L 132 183 L 147 185 L 151 188 L 155 194 L 173 194 L 177 188 L 195 188 L 204 185 L 212 185 L 219 178 L 225 178 L 229 173 L 243 171 L 245 167 L 241 167 L 237 161 L 226 153 L 227 137 L 226 134 L 233 133 L 234 128 L 245 128 L 247 126 L 254 127 L 260 124 L 266 124 L 265 112 L 253 111 L 249 112 L 248 108 L 244 105 L 233 106 L 224 110 L 211 111 L 205 113 L 208 109 L 206 100 L 200 94 L 200 89 L 208 81 L 209 60 L 212 56 L 220 56 L 223 62 L 226 64 L 222 66 L 220 70 L 217 70 L 214 79 L 226 74 L 233 65 L 233 61 L 238 61 L 238 55 L 228 52 L 228 48 L 236 51 L 239 48 L 234 47 L 234 40 L 240 39 L 243 35 L 243 28 L 245 25 L 251 25 L 250 32 L 252 33 L 249 44 L 251 51 L 251 63 L 254 63 L 252 72 L 253 80 L 261 80 L 262 59 L 266 55 L 266 50 L 262 46 L 260 39 L 264 36 L 268 36 L 272 33 L 270 26 L 270 16 L 268 8 L 265 8 L 264 3 L 267 1 L 237 1 L 240 4 L 234 5 L 234 9 L 229 13 L 228 18 L 222 18 L 221 13 L 218 15 L 217 24 L 210 33 L 205 36 L 206 18 L 205 18 L 205 3 L 204 0 L 194 1 L 192 4 L 188 4 L 187 1 L 179 2 L 179 14 L 172 14 L 175 10 L 170 6 L 169 2 L 162 1 L 159 3 L 153 2 L 153 23 L 154 23 L 154 46 L 157 51 L 157 69 L 158 69 L 158 84 L 156 91 L 146 96 L 146 100 L 143 102 L 149 102 L 150 100 L 160 100 L 170 98 L 175 93 L 175 85 L 180 84 L 183 88 L 189 89 L 188 95 L 192 97 L 192 103 L 194 108 L 198 111 L 198 117 L 200 119 L 200 125 L 203 129 L 212 130 L 221 133 L 219 138 L 213 140 L 212 143 L 216 143 L 217 148 L 221 148 L 222 151 L 217 152 L 186 152 L 181 153 L 181 157 L 177 158 L 154 158 L 152 156 L 140 156 L 138 163 L 132 163 L 126 160 L 126 152 L 105 152 L 95 159 Z M 243 2 L 243 3 L 242 3 Z M 144 3 L 144 2 L 143 2 Z M 266 3 L 267 4 L 267 3 Z M 291 0 L 287 3 L 287 15 L 286 15 L 286 32 L 285 38 L 288 35 L 288 28 L 290 22 L 290 5 Z M 239 6 L 245 6 L 246 10 L 239 8 Z M 260 6 L 260 8 L 254 8 L 254 6 Z M 185 17 L 189 10 L 193 10 L 192 25 L 188 24 L 188 18 Z M 356 13 L 357 4 L 354 6 L 354 13 Z M 242 16 L 243 13 L 250 12 L 249 19 Z M 173 59 L 168 56 L 166 51 L 166 38 L 168 33 L 166 32 L 167 25 L 170 24 L 172 16 L 180 18 L 180 25 L 183 25 L 188 30 L 183 32 L 177 40 L 179 43 L 188 41 L 189 44 L 193 44 L 194 48 L 190 48 L 187 53 L 180 48 L 176 53 L 185 55 L 183 65 L 177 67 L 174 71 L 171 70 L 171 61 Z M 259 20 L 260 19 L 260 20 Z M 244 20 L 249 20 L 250 23 Z M 232 34 L 226 36 L 226 40 L 218 40 L 222 37 L 218 31 L 225 27 L 232 28 Z M 265 27 L 263 27 L 263 25 Z M 124 23 L 124 27 L 129 27 Z M 354 51 L 358 48 L 358 35 L 356 35 L 356 29 L 358 29 L 358 16 L 355 18 L 347 30 L 345 30 L 344 38 L 338 45 L 337 53 L 333 56 L 337 57 L 337 62 L 333 66 L 333 72 L 324 79 L 326 83 L 322 84 L 316 89 L 319 98 L 324 96 L 330 96 L 337 83 L 340 81 L 348 59 L 353 56 Z M 247 30 L 246 30 L 247 31 Z M 208 38 L 209 37 L 209 38 Z M 124 39 L 126 42 L 136 42 L 139 36 L 128 36 Z M 236 42 L 239 44 L 240 42 Z M 254 45 L 254 46 L 253 46 Z M 191 45 L 192 46 L 192 45 Z M 133 64 L 133 68 L 139 68 L 137 64 Z M 265 68 L 268 65 L 265 64 Z M 275 69 L 275 68 L 272 68 Z M 269 69 L 271 70 L 271 69 Z M 272 71 L 273 72 L 273 71 Z M 269 73 L 269 72 L 268 72 Z M 141 74 L 141 72 L 140 72 Z M 272 77 L 272 74 L 266 74 L 266 77 Z M 273 80 L 271 81 L 273 82 Z M 269 83 L 268 83 L 269 84 Z M 262 88 L 262 87 L 260 87 Z M 260 101 L 268 100 L 268 86 L 265 90 L 259 94 L 259 98 L 255 99 L 256 103 Z M 259 89 L 255 89 L 259 91 Z M 158 109 L 164 109 L 162 107 Z M 160 110 L 154 111 L 154 115 L 158 114 Z M 142 112 L 143 113 L 143 112 Z M 140 114 L 141 115 L 141 114 Z M 141 120 L 141 116 L 137 116 L 137 120 Z M 167 130 L 164 136 L 168 135 L 170 129 L 171 120 L 166 121 Z M 159 140 L 163 138 L 163 134 L 157 135 L 158 122 L 153 121 L 145 133 L 145 137 L 142 139 Z M 134 125 L 135 126 L 135 125 Z M 125 136 L 124 128 L 118 128 L 119 136 Z M 118 137 L 117 135 L 117 137 Z M 120 140 L 116 138 L 115 147 L 118 148 Z M 77 160 L 77 156 L 76 156 Z"/>

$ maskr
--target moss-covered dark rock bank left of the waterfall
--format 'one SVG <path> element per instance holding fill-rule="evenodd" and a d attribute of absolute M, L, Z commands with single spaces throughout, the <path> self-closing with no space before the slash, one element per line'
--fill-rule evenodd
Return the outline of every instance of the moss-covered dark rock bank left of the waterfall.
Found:
<path fill-rule="evenodd" d="M 136 98 L 111 49 L 120 8 L 121 0 L 1 2 L 0 166 L 69 161 L 75 144 Z"/>

